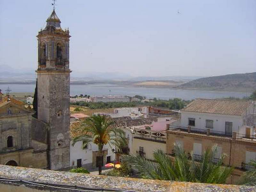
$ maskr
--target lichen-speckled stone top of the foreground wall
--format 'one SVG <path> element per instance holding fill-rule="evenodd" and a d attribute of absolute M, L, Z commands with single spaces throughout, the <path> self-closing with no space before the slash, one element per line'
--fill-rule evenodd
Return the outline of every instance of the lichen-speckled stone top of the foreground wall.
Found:
<path fill-rule="evenodd" d="M 12 167 L 7 165 L 0 165 L 0 178 L 12 180 L 25 180 L 36 183 L 43 183 L 47 185 L 58 186 L 76 186 L 88 189 L 104 189 L 112 191 L 256 191 L 256 187 L 251 186 L 237 186 L 237 185 L 220 185 L 220 184 L 203 184 L 190 182 L 176 182 L 176 181 L 160 181 L 160 180 L 146 180 L 123 177 L 110 177 L 102 175 L 91 175 L 71 172 L 60 172 L 51 170 L 40 170 L 24 167 Z M 0 179 L 1 183 L 6 184 Z M 12 185 L 12 182 L 7 183 Z M 21 185 L 21 184 L 20 184 Z M 2 185 L 3 186 L 3 185 Z M 14 185 L 13 185 L 14 186 Z M 17 184 L 16 184 L 17 186 Z M 29 184 L 26 184 L 30 187 Z M 31 184 L 31 188 L 33 188 Z M 10 188 L 10 186 L 9 186 Z M 52 190 L 55 191 L 55 190 Z"/>

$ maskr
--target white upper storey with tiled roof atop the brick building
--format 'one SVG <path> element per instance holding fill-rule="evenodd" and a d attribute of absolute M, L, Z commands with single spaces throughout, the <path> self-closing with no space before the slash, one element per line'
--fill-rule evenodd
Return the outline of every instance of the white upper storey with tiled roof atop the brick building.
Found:
<path fill-rule="evenodd" d="M 255 110 L 251 101 L 196 99 L 181 110 L 181 127 L 206 130 L 223 135 L 253 135 L 250 123 Z"/>

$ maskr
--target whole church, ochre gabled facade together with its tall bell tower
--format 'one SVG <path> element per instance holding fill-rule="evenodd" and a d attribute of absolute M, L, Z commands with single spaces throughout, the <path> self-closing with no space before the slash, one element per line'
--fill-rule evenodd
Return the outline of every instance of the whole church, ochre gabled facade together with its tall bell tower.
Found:
<path fill-rule="evenodd" d="M 69 167 L 69 31 L 55 10 L 38 32 L 37 117 L 0 93 L 0 164 L 60 170 Z"/>

